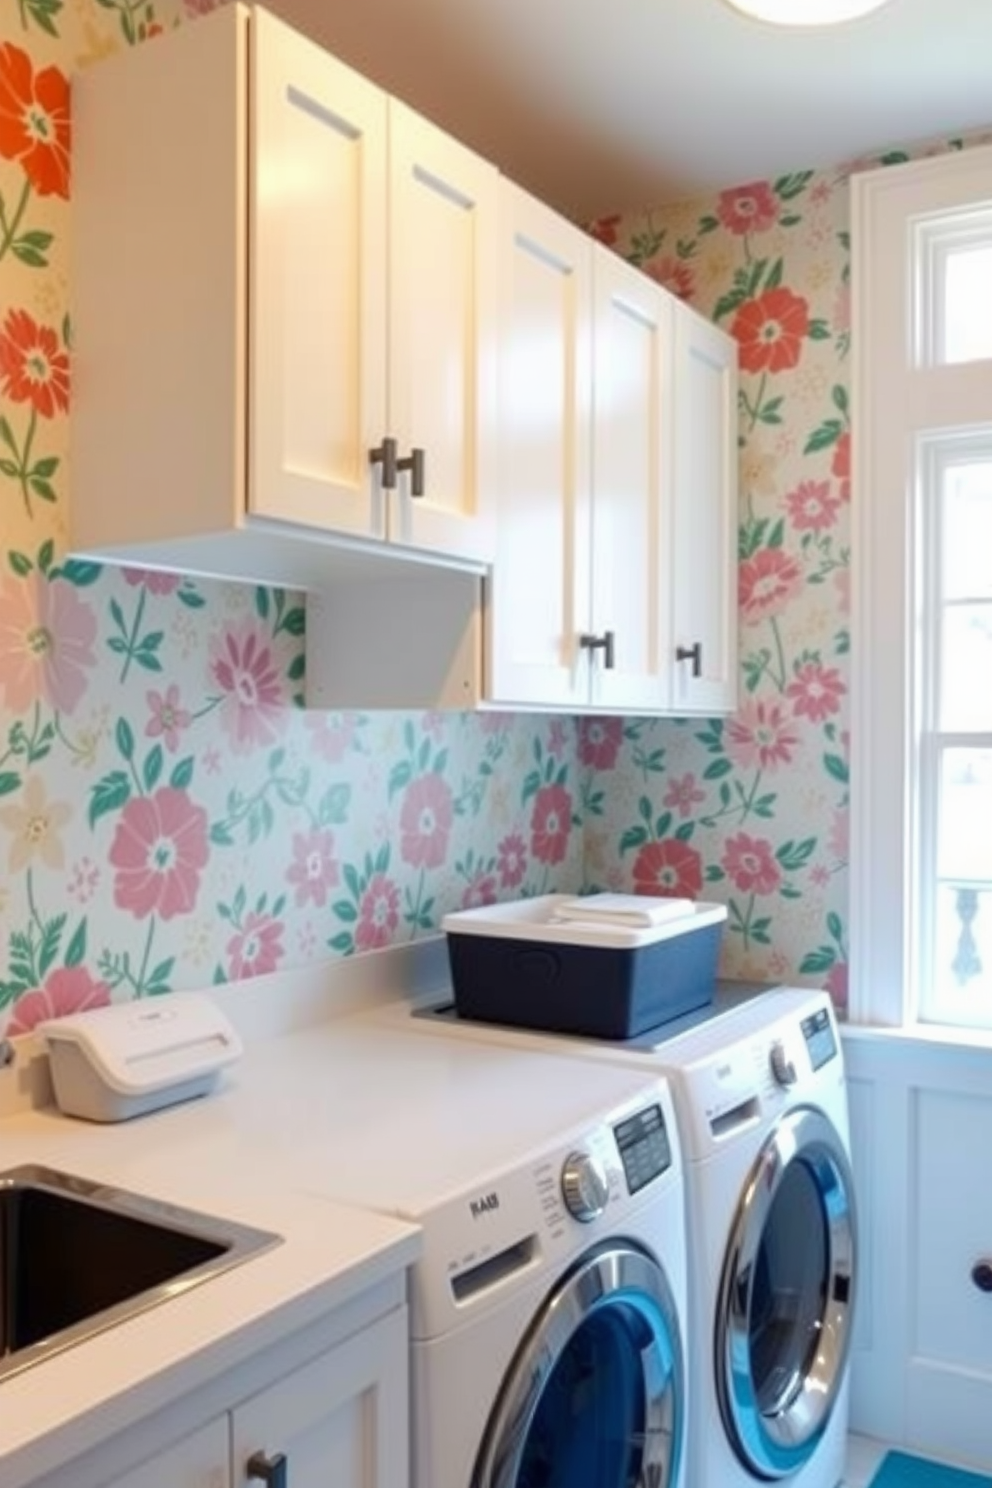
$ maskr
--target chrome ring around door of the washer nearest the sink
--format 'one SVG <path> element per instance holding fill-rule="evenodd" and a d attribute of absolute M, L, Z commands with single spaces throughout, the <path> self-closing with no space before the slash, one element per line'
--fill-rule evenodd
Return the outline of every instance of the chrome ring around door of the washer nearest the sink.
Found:
<path fill-rule="evenodd" d="M 642 1356 L 644 1481 L 657 1484 L 657 1488 L 672 1488 L 681 1458 L 686 1399 L 678 1312 L 657 1260 L 623 1240 L 605 1241 L 587 1251 L 544 1298 L 486 1424 L 471 1488 L 516 1488 L 534 1414 L 555 1364 L 587 1318 L 619 1302 L 635 1308 L 648 1321 L 654 1339 Z M 668 1375 L 657 1357 L 659 1314 L 672 1351 Z"/>

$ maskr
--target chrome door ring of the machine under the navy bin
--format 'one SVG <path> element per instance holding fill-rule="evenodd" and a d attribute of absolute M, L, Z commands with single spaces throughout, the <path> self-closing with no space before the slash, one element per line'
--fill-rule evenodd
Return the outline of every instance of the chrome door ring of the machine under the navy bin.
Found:
<path fill-rule="evenodd" d="M 827 1229 L 827 1298 L 819 1344 L 788 1405 L 761 1412 L 751 1376 L 750 1311 L 754 1265 L 787 1168 L 802 1162 L 815 1181 Z M 827 1116 L 799 1106 L 776 1122 L 744 1184 L 724 1254 L 715 1324 L 720 1414 L 741 1461 L 763 1478 L 796 1472 L 822 1436 L 851 1348 L 857 1223 L 845 1144 Z"/>

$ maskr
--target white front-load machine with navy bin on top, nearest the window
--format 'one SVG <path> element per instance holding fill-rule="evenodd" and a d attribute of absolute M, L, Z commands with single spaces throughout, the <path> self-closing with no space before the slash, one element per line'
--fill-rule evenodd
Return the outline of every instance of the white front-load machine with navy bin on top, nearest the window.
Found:
<path fill-rule="evenodd" d="M 837 1488 L 857 1231 L 828 995 L 747 988 L 622 1043 L 468 1022 L 446 998 L 382 1016 L 668 1076 L 689 1220 L 687 1485 Z"/>

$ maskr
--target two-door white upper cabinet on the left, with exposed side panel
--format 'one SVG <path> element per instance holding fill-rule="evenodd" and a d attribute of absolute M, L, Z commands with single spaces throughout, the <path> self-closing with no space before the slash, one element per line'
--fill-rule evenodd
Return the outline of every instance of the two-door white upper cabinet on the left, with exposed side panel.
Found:
<path fill-rule="evenodd" d="M 82 74 L 74 128 L 73 548 L 488 561 L 495 168 L 238 4 Z"/>

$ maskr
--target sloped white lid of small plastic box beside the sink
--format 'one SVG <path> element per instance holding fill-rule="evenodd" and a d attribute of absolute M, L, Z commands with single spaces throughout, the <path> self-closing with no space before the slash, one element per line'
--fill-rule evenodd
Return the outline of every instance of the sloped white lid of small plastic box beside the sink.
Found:
<path fill-rule="evenodd" d="M 120 1095 L 147 1095 L 238 1059 L 241 1039 L 202 992 L 170 992 L 144 1001 L 92 1007 L 49 1018 L 37 1033 L 73 1043 L 100 1079 Z"/>

